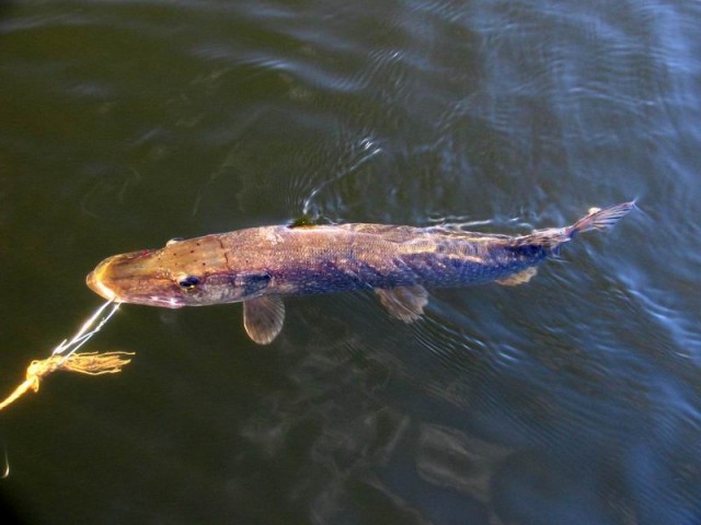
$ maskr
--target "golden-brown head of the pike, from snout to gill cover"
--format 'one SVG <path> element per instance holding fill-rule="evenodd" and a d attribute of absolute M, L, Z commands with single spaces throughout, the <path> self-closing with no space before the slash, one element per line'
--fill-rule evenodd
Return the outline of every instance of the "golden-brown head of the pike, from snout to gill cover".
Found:
<path fill-rule="evenodd" d="M 221 244 L 209 237 L 108 257 L 88 275 L 88 287 L 107 300 L 168 308 L 262 295 L 271 277 L 232 270 Z"/>

